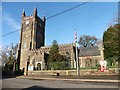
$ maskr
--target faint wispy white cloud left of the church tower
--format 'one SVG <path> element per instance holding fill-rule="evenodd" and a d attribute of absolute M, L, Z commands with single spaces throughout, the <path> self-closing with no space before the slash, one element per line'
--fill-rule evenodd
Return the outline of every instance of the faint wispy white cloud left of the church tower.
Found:
<path fill-rule="evenodd" d="M 13 30 L 20 29 L 20 24 L 19 24 L 15 19 L 13 19 L 12 17 L 10 17 L 9 14 L 5 14 L 5 15 L 3 16 L 3 20 L 4 20 L 5 23 L 7 23 Z"/>

